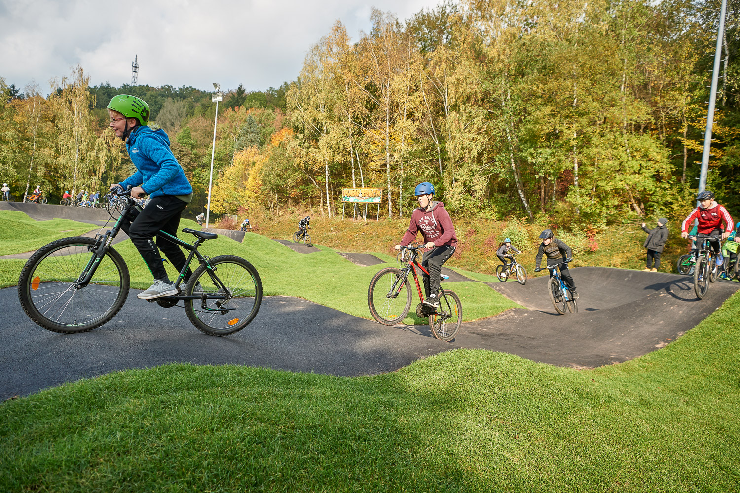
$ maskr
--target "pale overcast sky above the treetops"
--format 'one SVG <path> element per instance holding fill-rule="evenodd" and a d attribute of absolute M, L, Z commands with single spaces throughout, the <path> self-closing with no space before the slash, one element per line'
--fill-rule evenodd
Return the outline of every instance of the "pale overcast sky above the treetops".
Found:
<path fill-rule="evenodd" d="M 247 90 L 293 81 L 312 44 L 337 19 L 353 41 L 372 7 L 401 21 L 439 0 L 0 0 L 0 77 L 49 92 L 81 64 L 90 85 Z"/>

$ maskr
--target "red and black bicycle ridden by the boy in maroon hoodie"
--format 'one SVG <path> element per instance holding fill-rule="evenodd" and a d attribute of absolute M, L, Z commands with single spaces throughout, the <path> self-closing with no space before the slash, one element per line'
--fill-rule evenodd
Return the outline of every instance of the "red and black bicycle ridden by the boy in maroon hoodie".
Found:
<path fill-rule="evenodd" d="M 422 248 L 423 245 L 401 247 L 398 259 L 402 267 L 388 267 L 375 274 L 368 288 L 370 313 L 377 322 L 384 325 L 402 322 L 411 310 L 411 283 L 408 282 L 408 276 L 413 273 L 420 301 L 416 308 L 417 316 L 420 319 L 429 319 L 429 328 L 434 337 L 451 341 L 462 324 L 462 303 L 460 297 L 451 290 L 441 290 L 438 308 L 423 304 L 417 268 L 427 275 L 429 273 L 417 261 Z"/>

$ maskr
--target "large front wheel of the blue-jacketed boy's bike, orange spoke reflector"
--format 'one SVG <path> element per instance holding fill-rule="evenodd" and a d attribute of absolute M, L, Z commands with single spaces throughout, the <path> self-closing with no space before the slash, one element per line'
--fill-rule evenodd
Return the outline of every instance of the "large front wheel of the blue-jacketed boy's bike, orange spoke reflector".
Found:
<path fill-rule="evenodd" d="M 84 288 L 76 288 L 95 254 L 95 239 L 57 239 L 33 254 L 21 271 L 18 297 L 33 322 L 53 332 L 86 332 L 112 319 L 129 293 L 129 270 L 112 248 Z"/>

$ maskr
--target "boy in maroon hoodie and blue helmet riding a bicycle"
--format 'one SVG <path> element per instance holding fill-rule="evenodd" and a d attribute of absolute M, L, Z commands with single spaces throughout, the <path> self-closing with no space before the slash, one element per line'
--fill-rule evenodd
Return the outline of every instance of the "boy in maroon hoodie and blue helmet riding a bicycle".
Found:
<path fill-rule="evenodd" d="M 394 248 L 400 250 L 402 246 L 408 245 L 416 239 L 417 232 L 421 231 L 424 247 L 428 248 L 421 265 L 429 272 L 428 276 L 422 273 L 426 293 L 424 305 L 437 308 L 440 306 L 437 293 L 440 292 L 442 265 L 455 253 L 457 237 L 450 214 L 445 211 L 445 205 L 437 200 L 431 200 L 434 197 L 434 185 L 429 182 L 419 183 L 414 189 L 414 195 L 419 202 L 419 208 L 414 209 L 408 231 L 403 235 L 400 244 Z"/>

